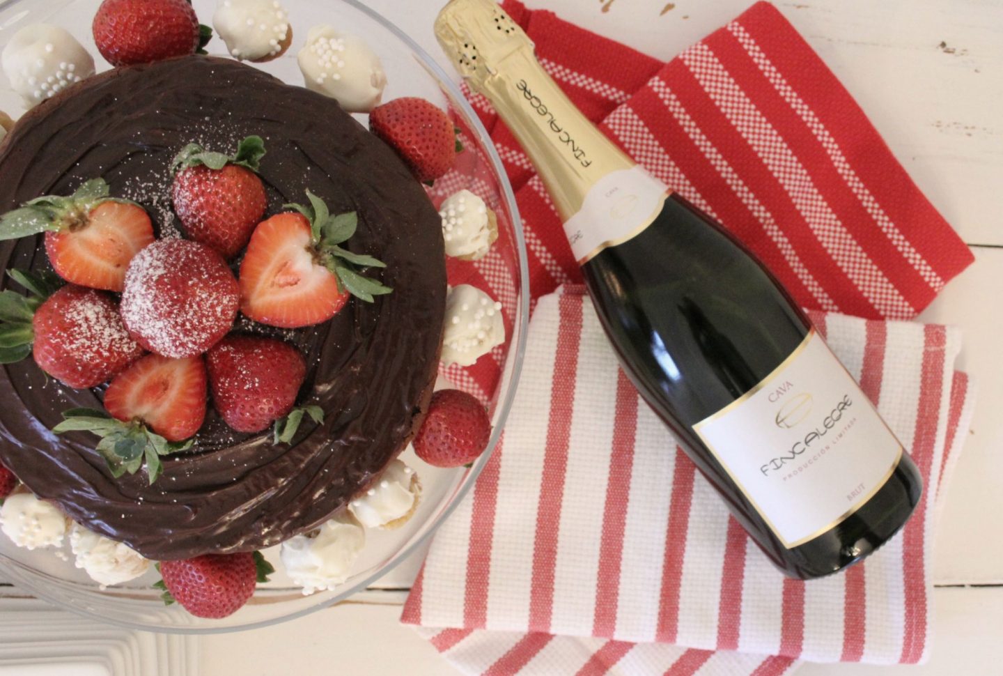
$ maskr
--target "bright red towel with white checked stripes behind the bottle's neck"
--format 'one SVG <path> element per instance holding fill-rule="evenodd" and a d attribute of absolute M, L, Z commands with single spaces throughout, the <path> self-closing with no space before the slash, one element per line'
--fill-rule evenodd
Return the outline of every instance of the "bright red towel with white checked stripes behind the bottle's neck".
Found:
<path fill-rule="evenodd" d="M 667 64 L 552 12 L 512 0 L 504 7 L 576 105 L 735 233 L 803 307 L 911 319 L 974 260 L 850 93 L 769 3 L 756 3 Z M 470 100 L 516 191 L 531 297 L 580 282 L 543 182 L 487 100 Z M 433 199 L 458 188 L 476 193 L 479 183 L 491 202 L 489 176 L 471 185 L 469 174 L 462 167 L 437 181 Z M 489 206 L 505 218 L 500 205 Z M 515 265 L 513 252 L 499 246 L 475 265 L 451 262 L 450 281 L 489 290 L 511 308 Z M 501 355 L 448 375 L 486 399 Z"/>

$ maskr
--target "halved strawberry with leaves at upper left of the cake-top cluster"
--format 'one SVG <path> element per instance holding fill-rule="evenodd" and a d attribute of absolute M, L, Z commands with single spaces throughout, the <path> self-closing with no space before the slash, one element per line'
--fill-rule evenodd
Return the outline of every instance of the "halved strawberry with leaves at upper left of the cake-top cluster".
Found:
<path fill-rule="evenodd" d="M 45 233 L 49 263 L 71 284 L 121 291 L 132 257 L 153 241 L 142 207 L 109 197 L 93 179 L 70 197 L 47 196 L 0 217 L 0 240 Z"/>

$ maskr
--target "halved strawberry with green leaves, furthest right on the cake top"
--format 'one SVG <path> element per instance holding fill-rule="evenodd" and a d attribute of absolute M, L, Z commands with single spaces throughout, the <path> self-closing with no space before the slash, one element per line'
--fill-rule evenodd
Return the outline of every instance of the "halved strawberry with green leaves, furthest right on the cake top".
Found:
<path fill-rule="evenodd" d="M 262 324 L 319 324 L 337 314 L 349 295 L 371 303 L 392 291 L 361 274 L 383 263 L 341 246 L 355 234 L 356 214 L 332 216 L 320 198 L 310 191 L 307 197 L 309 207 L 287 205 L 295 211 L 259 224 L 241 262 L 241 312 Z"/>

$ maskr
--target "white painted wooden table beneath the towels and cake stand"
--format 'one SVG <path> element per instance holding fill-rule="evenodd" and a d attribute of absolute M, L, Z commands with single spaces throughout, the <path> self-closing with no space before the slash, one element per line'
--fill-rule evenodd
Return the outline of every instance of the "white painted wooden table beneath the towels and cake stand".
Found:
<path fill-rule="evenodd" d="M 805 665 L 798 673 L 1003 673 L 1003 0 L 776 2 L 976 256 L 921 316 L 961 327 L 959 366 L 979 386 L 972 430 L 936 533 L 933 659 L 923 667 Z M 662 59 L 749 3 L 528 0 L 531 8 L 553 9 Z M 367 4 L 438 54 L 431 35 L 438 0 Z M 399 567 L 351 603 L 268 629 L 200 637 L 201 673 L 453 673 L 397 623 L 419 563 Z"/>

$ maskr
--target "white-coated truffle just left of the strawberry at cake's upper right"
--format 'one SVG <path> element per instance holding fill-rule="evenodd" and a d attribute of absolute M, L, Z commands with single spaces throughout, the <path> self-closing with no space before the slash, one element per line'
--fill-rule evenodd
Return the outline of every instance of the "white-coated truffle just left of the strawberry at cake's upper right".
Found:
<path fill-rule="evenodd" d="M 369 112 L 379 105 L 386 73 L 362 38 L 314 26 L 297 60 L 307 88 L 330 96 L 345 110 Z"/>

